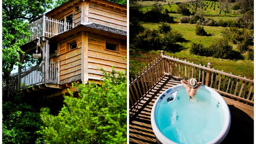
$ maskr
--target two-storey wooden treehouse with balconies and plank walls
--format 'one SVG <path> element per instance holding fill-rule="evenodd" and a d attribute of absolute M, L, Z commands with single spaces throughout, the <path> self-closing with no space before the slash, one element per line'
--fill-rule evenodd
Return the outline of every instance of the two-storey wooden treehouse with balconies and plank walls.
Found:
<path fill-rule="evenodd" d="M 36 66 L 11 75 L 10 93 L 62 90 L 73 82 L 99 82 L 106 72 L 126 71 L 126 6 L 107 0 L 69 0 L 28 26 L 20 63 L 41 54 Z M 58 94 L 63 93 L 58 91 Z"/>

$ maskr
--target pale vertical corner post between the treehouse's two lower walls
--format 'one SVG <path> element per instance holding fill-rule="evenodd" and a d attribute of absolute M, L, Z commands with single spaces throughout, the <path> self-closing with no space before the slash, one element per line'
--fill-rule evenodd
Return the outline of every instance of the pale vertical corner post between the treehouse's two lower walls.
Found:
<path fill-rule="evenodd" d="M 82 31 L 82 48 L 81 48 L 81 54 L 82 54 L 82 72 L 81 72 L 81 80 L 82 83 L 86 84 L 88 81 L 88 32 Z"/>

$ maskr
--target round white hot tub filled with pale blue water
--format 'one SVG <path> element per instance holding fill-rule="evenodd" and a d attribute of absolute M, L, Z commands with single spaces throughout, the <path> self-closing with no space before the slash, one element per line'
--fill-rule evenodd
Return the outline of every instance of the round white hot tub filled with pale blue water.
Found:
<path fill-rule="evenodd" d="M 190 99 L 182 84 L 164 91 L 154 103 L 151 124 L 158 144 L 218 144 L 228 134 L 230 111 L 224 99 L 202 85 Z"/>

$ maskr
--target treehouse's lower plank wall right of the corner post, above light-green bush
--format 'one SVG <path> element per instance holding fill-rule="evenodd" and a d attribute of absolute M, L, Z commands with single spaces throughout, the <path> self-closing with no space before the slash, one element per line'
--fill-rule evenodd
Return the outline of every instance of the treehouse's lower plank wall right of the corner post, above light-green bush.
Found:
<path fill-rule="evenodd" d="M 120 53 L 105 50 L 105 39 L 120 42 Z M 102 78 L 103 68 L 111 72 L 111 66 L 116 67 L 116 71 L 126 70 L 126 41 L 109 38 L 92 32 L 88 32 L 88 77 L 93 80 Z"/>

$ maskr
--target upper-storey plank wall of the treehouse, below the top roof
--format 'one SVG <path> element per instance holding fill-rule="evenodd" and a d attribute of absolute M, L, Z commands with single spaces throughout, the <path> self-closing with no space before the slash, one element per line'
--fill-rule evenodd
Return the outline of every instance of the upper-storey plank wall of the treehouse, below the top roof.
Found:
<path fill-rule="evenodd" d="M 89 4 L 89 22 L 126 31 L 126 12 L 100 4 Z"/>

